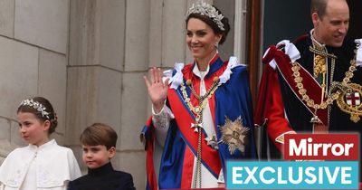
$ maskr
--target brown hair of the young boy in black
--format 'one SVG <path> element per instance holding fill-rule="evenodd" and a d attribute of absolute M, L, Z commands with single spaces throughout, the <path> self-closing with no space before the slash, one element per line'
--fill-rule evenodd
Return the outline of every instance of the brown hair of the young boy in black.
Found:
<path fill-rule="evenodd" d="M 104 145 L 107 149 L 116 147 L 117 133 L 104 123 L 93 123 L 81 133 L 81 144 L 88 146 Z"/>

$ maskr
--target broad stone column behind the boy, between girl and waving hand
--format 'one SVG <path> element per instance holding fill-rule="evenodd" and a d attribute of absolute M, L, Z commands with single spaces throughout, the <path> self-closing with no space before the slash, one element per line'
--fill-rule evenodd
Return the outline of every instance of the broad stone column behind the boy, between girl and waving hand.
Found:
<path fill-rule="evenodd" d="M 137 189 L 146 181 L 139 132 L 148 115 L 142 79 L 148 28 L 147 0 L 71 1 L 67 143 L 81 160 L 82 130 L 93 122 L 109 124 L 119 135 L 112 164 L 132 174 Z"/>

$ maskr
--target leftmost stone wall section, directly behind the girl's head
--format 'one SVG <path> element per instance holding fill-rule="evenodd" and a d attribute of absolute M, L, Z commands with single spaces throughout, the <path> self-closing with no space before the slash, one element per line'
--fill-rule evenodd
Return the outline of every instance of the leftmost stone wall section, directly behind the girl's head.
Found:
<path fill-rule="evenodd" d="M 16 109 L 25 98 L 44 96 L 59 117 L 53 135 L 64 144 L 69 1 L 0 1 L 0 162 L 18 135 Z"/>

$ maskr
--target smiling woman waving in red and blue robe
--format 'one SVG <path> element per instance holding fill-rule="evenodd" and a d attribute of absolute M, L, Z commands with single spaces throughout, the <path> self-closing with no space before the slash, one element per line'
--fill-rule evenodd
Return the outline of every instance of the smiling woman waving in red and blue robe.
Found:
<path fill-rule="evenodd" d="M 145 77 L 153 107 L 143 131 L 150 189 L 157 189 L 153 139 L 163 146 L 160 189 L 224 186 L 226 160 L 256 157 L 246 68 L 233 57 L 223 62 L 217 52 L 229 30 L 213 5 L 192 5 L 186 43 L 195 62 L 177 63 L 166 80 L 157 68 Z"/>

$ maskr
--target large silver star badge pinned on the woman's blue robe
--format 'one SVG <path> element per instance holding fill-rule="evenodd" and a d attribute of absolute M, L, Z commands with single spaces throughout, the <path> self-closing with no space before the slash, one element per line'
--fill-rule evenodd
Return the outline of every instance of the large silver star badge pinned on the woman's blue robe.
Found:
<path fill-rule="evenodd" d="M 228 146 L 230 154 L 233 155 L 236 149 L 239 149 L 242 153 L 245 151 L 245 145 L 248 144 L 248 138 L 250 128 L 243 126 L 243 119 L 239 116 L 234 121 L 228 119 L 225 116 L 224 126 L 219 126 L 222 137 L 220 142 Z"/>

